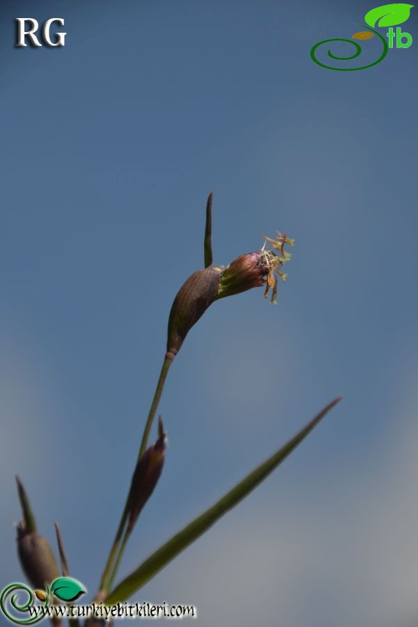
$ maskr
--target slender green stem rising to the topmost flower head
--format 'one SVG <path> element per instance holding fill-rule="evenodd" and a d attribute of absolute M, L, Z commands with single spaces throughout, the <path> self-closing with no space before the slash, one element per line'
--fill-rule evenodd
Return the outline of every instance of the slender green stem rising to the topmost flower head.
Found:
<path fill-rule="evenodd" d="M 144 428 L 144 434 L 142 435 L 141 447 L 139 449 L 137 462 L 141 459 L 141 457 L 144 455 L 146 451 L 146 446 L 148 443 L 148 436 L 150 434 L 151 426 L 153 426 L 155 412 L 157 411 L 158 403 L 160 403 L 162 390 L 164 389 L 164 383 L 165 383 L 171 362 L 172 362 L 172 359 L 168 359 L 167 357 L 164 358 L 164 362 L 162 364 L 162 368 L 160 372 L 160 378 L 158 379 L 157 388 L 155 389 L 153 403 L 151 404 L 150 412 L 148 414 L 148 418 L 146 420 L 146 425 Z M 119 563 L 121 562 L 123 551 L 125 550 L 125 545 L 130 536 L 130 532 L 127 532 L 127 530 L 125 531 L 126 521 L 127 521 L 127 517 L 129 516 L 129 512 L 130 512 L 130 490 L 127 493 L 125 506 L 123 508 L 123 513 L 121 516 L 121 522 L 119 522 L 119 526 L 116 532 L 114 543 L 111 546 L 111 550 L 109 552 L 109 557 L 107 558 L 106 566 L 104 566 L 102 580 L 100 582 L 101 590 L 109 591 L 111 584 L 114 581 L 114 578 L 116 577 L 118 566 L 119 566 Z M 121 543 L 124 531 L 125 531 L 125 536 L 123 537 L 123 541 Z"/>

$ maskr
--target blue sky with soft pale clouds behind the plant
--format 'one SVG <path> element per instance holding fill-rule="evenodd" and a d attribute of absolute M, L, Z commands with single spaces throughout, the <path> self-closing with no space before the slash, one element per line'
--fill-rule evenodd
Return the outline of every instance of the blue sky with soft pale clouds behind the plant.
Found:
<path fill-rule="evenodd" d="M 289 277 L 277 307 L 231 297 L 187 336 L 121 575 L 343 394 L 134 601 L 193 603 L 202 627 L 417 624 L 417 9 L 373 68 L 309 56 L 374 6 L 2 3 L 2 587 L 22 579 L 18 473 L 93 595 L 214 189 L 215 263 L 280 229 Z M 23 16 L 64 17 L 65 47 L 16 49 Z"/>

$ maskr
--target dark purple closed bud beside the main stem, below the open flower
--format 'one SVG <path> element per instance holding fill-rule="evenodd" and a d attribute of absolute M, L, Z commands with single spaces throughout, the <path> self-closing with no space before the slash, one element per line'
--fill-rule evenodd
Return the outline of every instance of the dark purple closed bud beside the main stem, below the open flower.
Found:
<path fill-rule="evenodd" d="M 166 434 L 159 420 L 159 438 L 152 447 L 147 449 L 144 455 L 139 458 L 137 467 L 132 476 L 130 488 L 130 515 L 127 521 L 127 531 L 130 533 L 138 520 L 144 505 L 152 495 L 157 485 L 158 479 L 164 466 L 164 456 L 166 450 Z"/>

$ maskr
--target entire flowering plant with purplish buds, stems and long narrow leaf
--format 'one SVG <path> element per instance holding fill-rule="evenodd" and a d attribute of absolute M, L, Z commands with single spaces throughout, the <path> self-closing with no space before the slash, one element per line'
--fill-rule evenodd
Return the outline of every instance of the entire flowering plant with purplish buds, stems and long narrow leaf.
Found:
<path fill-rule="evenodd" d="M 180 288 L 173 301 L 169 315 L 167 350 L 162 363 L 160 378 L 158 379 L 153 402 L 144 426 L 144 433 L 139 446 L 130 488 L 127 491 L 125 507 L 114 543 L 111 546 L 104 566 L 98 592 L 95 596 L 95 601 L 102 601 L 106 605 L 125 601 L 125 599 L 132 596 L 181 551 L 206 532 L 210 526 L 246 497 L 251 490 L 254 490 L 268 474 L 291 454 L 325 414 L 341 400 L 341 397 L 335 398 L 291 440 L 272 454 L 270 458 L 258 465 L 255 470 L 229 490 L 226 495 L 164 543 L 132 573 L 118 582 L 117 585 L 114 585 L 127 542 L 142 509 L 155 490 L 162 474 L 166 452 L 166 433 L 161 417 L 158 422 L 158 437 L 155 444 L 148 447 L 148 438 L 157 413 L 167 373 L 178 351 L 183 346 L 187 333 L 213 302 L 224 297 L 236 295 L 254 287 L 264 286 L 265 297 L 268 297 L 271 291 L 271 302 L 276 303 L 278 280 L 286 280 L 286 274 L 282 272 L 282 269 L 284 264 L 291 258 L 291 255 L 286 250 L 286 245 L 291 247 L 294 245 L 294 240 L 288 238 L 286 234 L 277 231 L 275 238 L 263 236 L 265 242 L 261 249 L 242 254 L 224 267 L 212 265 L 211 230 L 212 192 L 209 195 L 206 206 L 205 267 L 194 272 L 185 281 L 185 284 Z M 17 486 L 23 511 L 22 522 L 20 522 L 17 528 L 18 554 L 28 580 L 33 586 L 41 588 L 41 590 L 36 591 L 36 596 L 41 599 L 45 598 L 46 594 L 42 592 L 42 588 L 46 587 L 49 589 L 49 584 L 59 576 L 59 568 L 49 544 L 36 530 L 36 522 L 31 505 L 19 479 L 17 480 Z M 56 527 L 56 533 L 61 558 L 61 571 L 64 576 L 68 576 L 68 564 L 58 526 Z M 77 625 L 77 619 L 72 619 L 72 622 Z M 88 619 L 86 625 L 93 626 L 94 622 L 95 619 Z"/>

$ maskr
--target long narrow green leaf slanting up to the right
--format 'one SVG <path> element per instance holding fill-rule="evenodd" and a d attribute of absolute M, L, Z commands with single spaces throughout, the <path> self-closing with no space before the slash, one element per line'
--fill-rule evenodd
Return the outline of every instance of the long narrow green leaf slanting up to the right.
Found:
<path fill-rule="evenodd" d="M 212 527 L 219 518 L 238 504 L 258 486 L 268 475 L 297 447 L 304 438 L 312 431 L 312 429 L 320 422 L 321 419 L 332 410 L 332 408 L 341 401 L 341 396 L 334 398 L 311 422 L 289 440 L 284 447 L 281 447 L 276 453 L 269 457 L 265 462 L 256 467 L 245 479 L 240 481 L 232 490 L 230 490 L 215 505 L 207 509 L 201 516 L 195 518 L 192 522 L 182 529 L 178 534 L 173 536 L 168 542 L 163 544 L 153 555 L 148 557 L 137 568 L 121 582 L 106 599 L 107 605 L 114 605 L 121 601 L 125 601 L 139 588 L 144 586 L 148 580 L 153 578 L 159 571 L 167 566 L 174 557 L 183 551 L 189 544 L 199 538 L 209 527 Z"/>

